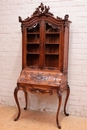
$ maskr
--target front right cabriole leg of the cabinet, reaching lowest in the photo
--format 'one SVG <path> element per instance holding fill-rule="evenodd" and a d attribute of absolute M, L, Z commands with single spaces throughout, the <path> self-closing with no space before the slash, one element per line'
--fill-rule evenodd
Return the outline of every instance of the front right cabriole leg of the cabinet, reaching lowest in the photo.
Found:
<path fill-rule="evenodd" d="M 59 99 L 59 105 L 58 105 L 58 110 L 57 110 L 57 114 L 56 114 L 56 123 L 57 123 L 58 128 L 61 129 L 61 126 L 59 125 L 58 116 L 59 116 L 59 111 L 60 111 L 60 107 L 61 107 L 62 96 L 61 96 L 60 91 L 58 91 L 57 94 L 58 94 L 58 99 Z"/>

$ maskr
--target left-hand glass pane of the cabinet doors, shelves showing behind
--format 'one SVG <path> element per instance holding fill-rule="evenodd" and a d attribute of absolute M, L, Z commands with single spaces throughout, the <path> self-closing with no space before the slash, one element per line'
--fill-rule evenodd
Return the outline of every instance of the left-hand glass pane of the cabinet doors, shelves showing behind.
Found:
<path fill-rule="evenodd" d="M 27 28 L 26 61 L 27 66 L 39 65 L 40 55 L 40 25 L 37 23 Z"/>

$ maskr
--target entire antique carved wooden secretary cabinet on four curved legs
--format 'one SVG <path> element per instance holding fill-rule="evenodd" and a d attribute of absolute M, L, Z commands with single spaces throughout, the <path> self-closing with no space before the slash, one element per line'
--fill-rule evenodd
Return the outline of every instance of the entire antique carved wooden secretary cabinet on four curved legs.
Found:
<path fill-rule="evenodd" d="M 64 104 L 66 116 L 66 104 L 70 93 L 67 83 L 68 74 L 68 46 L 69 46 L 69 23 L 68 15 L 64 19 L 55 18 L 49 12 L 49 6 L 40 4 L 32 14 L 25 20 L 19 17 L 22 30 L 22 71 L 14 90 L 15 101 L 20 116 L 20 105 L 17 97 L 19 90 L 25 94 L 27 109 L 27 92 L 50 94 L 56 93 L 59 105 L 56 114 L 58 121 L 61 106 L 61 93 L 66 90 L 67 95 Z"/>

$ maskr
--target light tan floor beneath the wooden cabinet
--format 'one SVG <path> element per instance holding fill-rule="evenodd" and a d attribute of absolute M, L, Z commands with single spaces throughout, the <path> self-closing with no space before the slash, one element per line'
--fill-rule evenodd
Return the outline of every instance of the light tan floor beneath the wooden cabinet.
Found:
<path fill-rule="evenodd" d="M 21 110 L 18 121 L 14 121 L 16 107 L 0 105 L 0 130 L 58 130 L 56 113 Z M 60 114 L 61 130 L 87 130 L 87 118 L 66 117 Z"/>

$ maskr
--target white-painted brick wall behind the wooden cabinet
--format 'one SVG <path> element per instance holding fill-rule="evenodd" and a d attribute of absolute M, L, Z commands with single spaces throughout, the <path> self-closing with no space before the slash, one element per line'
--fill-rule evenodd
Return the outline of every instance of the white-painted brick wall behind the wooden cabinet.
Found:
<path fill-rule="evenodd" d="M 0 0 L 0 103 L 15 106 L 13 91 L 22 65 L 21 27 L 18 16 L 25 19 L 43 2 L 54 16 L 69 14 L 69 74 L 71 88 L 68 112 L 87 117 L 87 1 L 86 0 Z M 63 97 L 65 96 L 65 93 Z M 19 92 L 21 107 L 23 92 Z M 29 108 L 56 112 L 56 95 L 29 94 Z M 63 107 L 61 108 L 62 111 Z"/>

